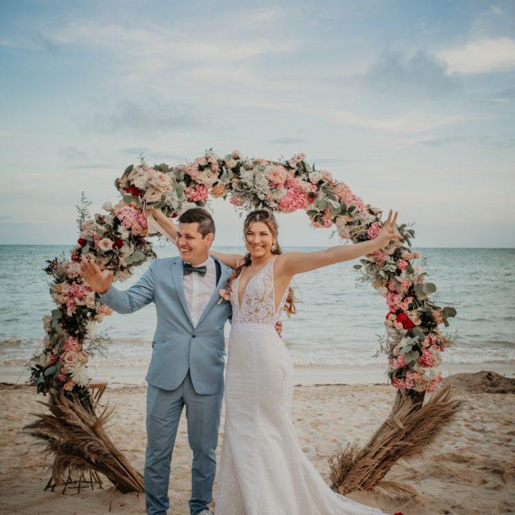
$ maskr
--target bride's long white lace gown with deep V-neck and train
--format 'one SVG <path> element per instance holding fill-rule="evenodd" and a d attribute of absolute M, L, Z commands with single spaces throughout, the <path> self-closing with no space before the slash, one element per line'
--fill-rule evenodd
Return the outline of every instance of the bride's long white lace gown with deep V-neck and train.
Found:
<path fill-rule="evenodd" d="M 333 492 L 304 455 L 291 420 L 293 363 L 275 322 L 275 258 L 254 275 L 233 319 L 216 515 L 378 515 Z"/>

